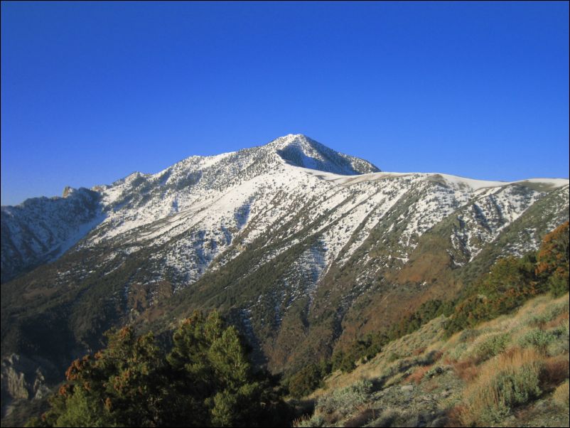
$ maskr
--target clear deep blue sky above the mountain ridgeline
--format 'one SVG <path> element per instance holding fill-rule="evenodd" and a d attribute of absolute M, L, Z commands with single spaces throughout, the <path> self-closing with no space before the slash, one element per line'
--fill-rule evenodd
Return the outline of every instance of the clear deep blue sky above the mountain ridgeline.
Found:
<path fill-rule="evenodd" d="M 1 203 L 303 133 L 385 171 L 569 176 L 569 4 L 1 3 Z"/>

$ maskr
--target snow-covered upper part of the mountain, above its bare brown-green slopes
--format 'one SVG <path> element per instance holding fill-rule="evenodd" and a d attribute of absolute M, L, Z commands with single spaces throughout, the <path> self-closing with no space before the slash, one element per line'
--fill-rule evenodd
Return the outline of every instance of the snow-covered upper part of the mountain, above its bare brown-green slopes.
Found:
<path fill-rule="evenodd" d="M 473 260 L 537 200 L 564 186 L 568 180 L 505 183 L 381 172 L 367 161 L 289 134 L 251 149 L 190 156 L 158 173 L 132 173 L 92 191 L 71 191 L 59 199 L 85 205 L 75 223 L 58 201 L 50 201 L 49 208 L 34 208 L 33 202 L 3 207 L 3 272 L 5 265 L 9 272 L 16 254 L 21 262 L 15 269 L 73 250 L 78 242 L 76 248 L 114 249 L 103 262 L 109 274 L 117 269 L 116 255 L 132 257 L 145 248 L 153 266 L 146 282 L 168 278 L 180 289 L 251 245 L 267 247 L 254 270 L 315 237 L 321 242 L 318 257 L 303 256 L 299 262 L 306 272 L 321 272 L 312 288 L 300 288 L 311 295 L 330 266 L 345 264 L 362 245 L 389 246 L 375 269 L 399 269 L 419 238 L 450 215 L 459 221 L 449 237 L 453 249 L 463 252 L 466 262 Z M 517 243 L 512 248 L 517 251 Z"/>

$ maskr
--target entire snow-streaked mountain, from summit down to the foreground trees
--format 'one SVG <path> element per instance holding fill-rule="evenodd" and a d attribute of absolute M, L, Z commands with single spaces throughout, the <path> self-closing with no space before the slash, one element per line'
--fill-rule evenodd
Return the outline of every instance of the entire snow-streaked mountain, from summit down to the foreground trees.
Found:
<path fill-rule="evenodd" d="M 51 262 L 3 284 L 3 316 L 17 320 L 3 341 L 20 336 L 2 352 L 38 341 L 65 360 L 112 325 L 168 328 L 216 307 L 284 370 L 536 249 L 568 204 L 566 179 L 381 172 L 300 134 L 191 156 L 2 207 L 3 280 Z M 56 331 L 65 355 L 43 341 Z"/>

